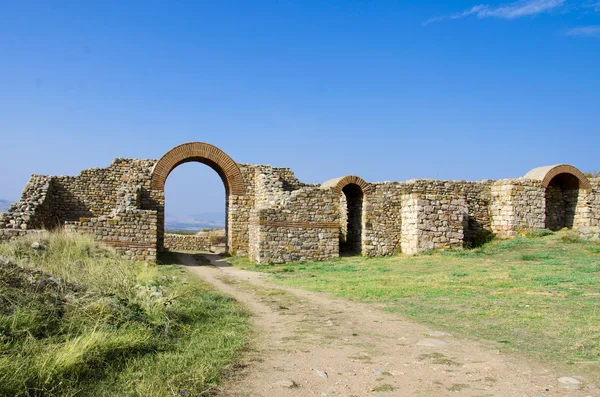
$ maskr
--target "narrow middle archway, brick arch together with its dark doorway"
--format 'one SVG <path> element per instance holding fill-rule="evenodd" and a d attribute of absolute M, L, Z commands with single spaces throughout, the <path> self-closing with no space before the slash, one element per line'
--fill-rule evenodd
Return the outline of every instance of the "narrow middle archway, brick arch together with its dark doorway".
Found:
<path fill-rule="evenodd" d="M 371 192 L 370 185 L 358 176 L 347 175 L 331 179 L 321 187 L 332 188 L 340 195 L 340 252 L 362 253 L 364 198 Z"/>

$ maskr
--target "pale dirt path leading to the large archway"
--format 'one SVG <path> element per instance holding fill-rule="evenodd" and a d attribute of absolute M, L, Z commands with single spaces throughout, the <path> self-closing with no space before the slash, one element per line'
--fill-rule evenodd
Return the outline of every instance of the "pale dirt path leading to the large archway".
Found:
<path fill-rule="evenodd" d="M 276 286 L 269 275 L 234 268 L 217 255 L 180 258 L 253 314 L 256 340 L 247 365 L 219 396 L 600 396 L 577 374 L 367 305 Z"/>

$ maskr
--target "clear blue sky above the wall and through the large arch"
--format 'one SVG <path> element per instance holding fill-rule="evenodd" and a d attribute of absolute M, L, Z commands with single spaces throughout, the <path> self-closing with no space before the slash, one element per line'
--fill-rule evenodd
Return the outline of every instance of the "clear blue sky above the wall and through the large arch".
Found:
<path fill-rule="evenodd" d="M 0 0 L 0 198 L 204 141 L 317 183 L 600 169 L 600 0 Z M 167 211 L 223 210 L 205 166 Z"/>

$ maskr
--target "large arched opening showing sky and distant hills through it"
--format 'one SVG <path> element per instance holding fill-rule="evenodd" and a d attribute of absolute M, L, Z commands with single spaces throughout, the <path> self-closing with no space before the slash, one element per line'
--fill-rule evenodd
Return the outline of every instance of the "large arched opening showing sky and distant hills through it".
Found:
<path fill-rule="evenodd" d="M 227 194 L 223 180 L 199 162 L 177 166 L 165 183 L 164 248 L 226 250 Z"/>

